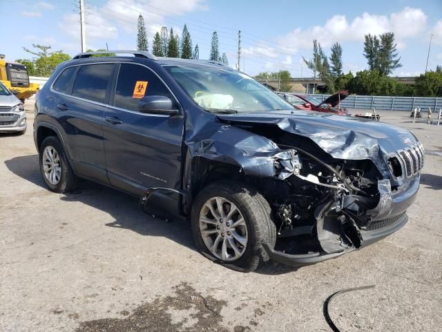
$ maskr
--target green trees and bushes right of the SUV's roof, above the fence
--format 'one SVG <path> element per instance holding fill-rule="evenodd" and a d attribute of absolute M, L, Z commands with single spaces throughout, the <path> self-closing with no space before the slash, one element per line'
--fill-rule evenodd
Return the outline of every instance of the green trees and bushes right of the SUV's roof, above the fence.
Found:
<path fill-rule="evenodd" d="M 415 84 L 403 84 L 389 75 L 402 66 L 394 42 L 394 33 L 383 33 L 379 36 L 365 35 L 364 53 L 368 68 L 356 72 L 343 73 L 343 48 L 334 43 L 327 57 L 320 43 L 313 41 L 313 54 L 310 58 L 302 57 L 302 61 L 317 73 L 318 79 L 324 84 L 323 93 L 334 93 L 347 90 L 358 95 L 404 95 L 422 97 L 442 97 L 442 67 L 436 66 L 435 71 L 427 71 L 416 77 Z M 280 91 L 291 89 L 289 71 L 280 79 Z M 288 76 L 287 76 L 288 75 Z M 267 78 L 266 78 L 267 77 Z M 278 79 L 279 73 L 259 73 L 257 79 L 271 77 Z M 283 82 L 283 78 L 284 81 Z"/>

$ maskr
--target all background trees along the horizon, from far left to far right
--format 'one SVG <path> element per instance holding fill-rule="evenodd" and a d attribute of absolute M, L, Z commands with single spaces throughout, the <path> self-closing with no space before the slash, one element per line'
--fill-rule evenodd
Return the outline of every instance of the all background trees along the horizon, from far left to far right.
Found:
<path fill-rule="evenodd" d="M 23 47 L 33 55 L 32 59 L 17 59 L 25 64 L 31 76 L 49 77 L 55 67 L 68 59 L 70 55 L 61 50 L 52 51 L 51 46 L 32 44 L 34 49 Z M 148 50 L 149 42 L 144 17 L 140 15 L 137 22 L 137 49 Z M 101 49 L 103 50 L 103 49 Z M 177 35 L 163 26 L 155 33 L 151 52 L 157 57 L 180 57 L 182 59 L 199 59 L 200 50 L 198 44 L 193 47 L 189 30 L 184 24 L 182 34 Z M 317 40 L 313 41 L 313 53 L 309 58 L 302 58 L 311 71 L 317 73 L 319 80 L 324 82 L 324 88 L 320 92 L 334 93 L 339 90 L 347 90 L 349 93 L 358 95 L 404 95 L 422 97 L 442 97 L 442 67 L 436 66 L 435 71 L 427 71 L 416 77 L 415 84 L 403 84 L 397 82 L 389 75 L 402 66 L 401 57 L 398 55 L 394 33 L 384 33 L 379 36 L 365 35 L 364 56 L 367 59 L 368 68 L 357 71 L 356 74 L 349 71 L 343 72 L 343 48 L 339 43 L 334 43 L 327 56 Z M 96 56 L 108 56 L 104 53 Z M 229 64 L 226 53 L 220 53 L 218 33 L 212 34 L 209 59 Z M 289 91 L 292 87 L 289 71 L 274 73 L 259 73 L 255 77 L 260 80 L 279 80 L 280 91 Z"/>

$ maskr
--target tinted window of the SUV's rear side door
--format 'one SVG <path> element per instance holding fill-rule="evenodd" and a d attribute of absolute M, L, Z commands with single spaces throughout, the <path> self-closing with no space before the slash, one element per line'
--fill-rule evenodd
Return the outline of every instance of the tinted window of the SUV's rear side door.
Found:
<path fill-rule="evenodd" d="M 75 77 L 72 95 L 95 102 L 106 102 L 108 85 L 112 81 L 114 64 L 81 66 Z"/>

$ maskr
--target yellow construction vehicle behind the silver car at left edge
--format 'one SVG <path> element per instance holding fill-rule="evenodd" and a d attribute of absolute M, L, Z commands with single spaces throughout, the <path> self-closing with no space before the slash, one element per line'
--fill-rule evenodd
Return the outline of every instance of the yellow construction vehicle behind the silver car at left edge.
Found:
<path fill-rule="evenodd" d="M 5 56 L 0 55 L 0 81 L 21 102 L 24 102 L 39 89 L 39 84 L 30 83 L 28 68 L 17 62 L 6 62 Z"/>

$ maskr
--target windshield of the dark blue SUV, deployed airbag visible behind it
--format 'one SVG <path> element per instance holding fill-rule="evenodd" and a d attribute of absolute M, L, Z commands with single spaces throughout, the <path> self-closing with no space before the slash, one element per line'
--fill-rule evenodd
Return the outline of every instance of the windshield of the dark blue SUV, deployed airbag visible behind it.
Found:
<path fill-rule="evenodd" d="M 291 110 L 291 104 L 238 71 L 193 64 L 164 65 L 178 84 L 203 109 L 247 113 Z"/>

